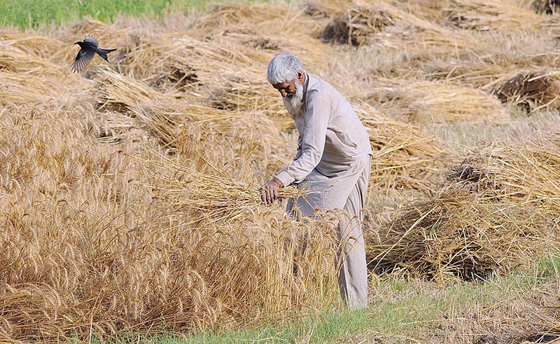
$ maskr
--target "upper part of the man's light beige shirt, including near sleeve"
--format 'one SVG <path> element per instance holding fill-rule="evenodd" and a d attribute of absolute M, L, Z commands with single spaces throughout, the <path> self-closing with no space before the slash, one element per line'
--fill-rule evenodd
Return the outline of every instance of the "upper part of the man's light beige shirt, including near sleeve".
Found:
<path fill-rule="evenodd" d="M 284 186 L 311 171 L 340 177 L 372 154 L 370 137 L 352 106 L 329 83 L 305 74 L 303 116 L 294 118 L 299 138 L 295 160 L 276 175 Z"/>

